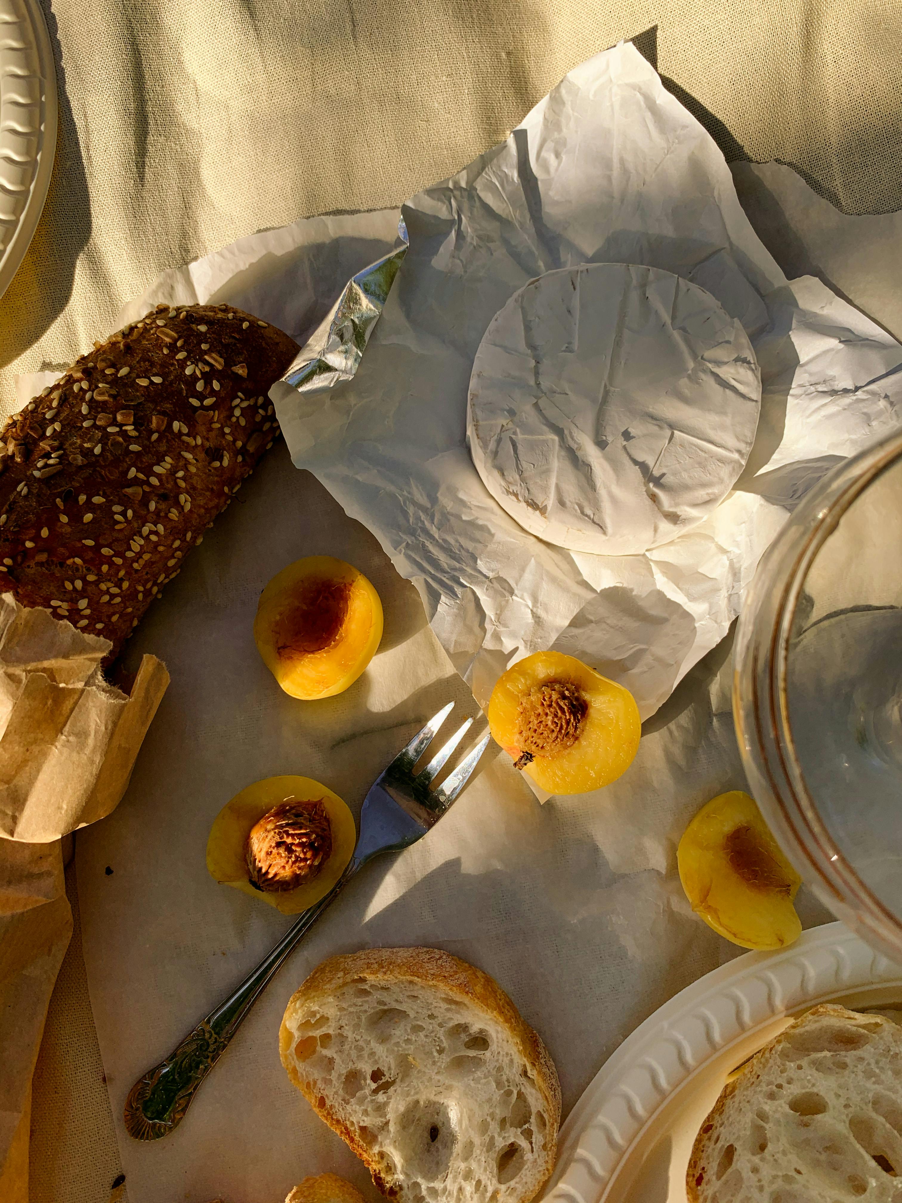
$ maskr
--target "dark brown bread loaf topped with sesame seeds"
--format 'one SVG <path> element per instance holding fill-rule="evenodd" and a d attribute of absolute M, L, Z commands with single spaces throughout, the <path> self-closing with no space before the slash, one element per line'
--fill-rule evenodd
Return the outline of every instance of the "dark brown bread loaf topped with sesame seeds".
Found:
<path fill-rule="evenodd" d="M 230 306 L 158 306 L 0 434 L 0 592 L 111 656 L 278 434 L 297 344 Z"/>

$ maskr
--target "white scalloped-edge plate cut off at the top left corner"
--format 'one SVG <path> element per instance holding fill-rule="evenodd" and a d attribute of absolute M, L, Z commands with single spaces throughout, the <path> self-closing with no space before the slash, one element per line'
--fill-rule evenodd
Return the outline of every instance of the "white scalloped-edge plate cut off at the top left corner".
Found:
<path fill-rule="evenodd" d="M 57 75 L 37 0 L 0 0 L 0 296 L 25 257 L 57 153 Z"/>

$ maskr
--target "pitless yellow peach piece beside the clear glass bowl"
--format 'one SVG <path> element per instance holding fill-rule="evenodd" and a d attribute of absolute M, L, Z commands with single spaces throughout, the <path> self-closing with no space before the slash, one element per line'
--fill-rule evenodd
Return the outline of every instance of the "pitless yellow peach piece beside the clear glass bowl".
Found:
<path fill-rule="evenodd" d="M 802 879 L 741 789 L 702 806 L 680 841 L 677 867 L 693 911 L 734 944 L 784 948 L 801 935 L 793 899 Z"/>

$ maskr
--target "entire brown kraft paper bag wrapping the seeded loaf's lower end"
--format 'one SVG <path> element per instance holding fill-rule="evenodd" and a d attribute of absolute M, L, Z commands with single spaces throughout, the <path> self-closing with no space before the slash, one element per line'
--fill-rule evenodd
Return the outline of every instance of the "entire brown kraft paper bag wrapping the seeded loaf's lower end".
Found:
<path fill-rule="evenodd" d="M 168 685 L 144 656 L 126 697 L 106 639 L 0 595 L 0 1199 L 26 1203 L 31 1077 L 72 934 L 60 837 L 109 814 Z"/>

